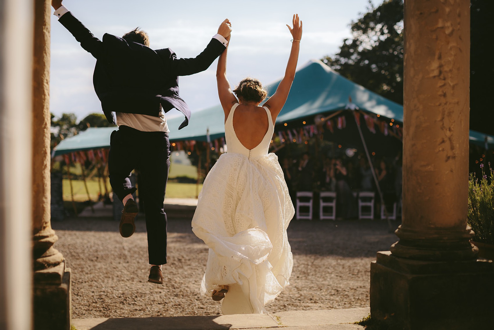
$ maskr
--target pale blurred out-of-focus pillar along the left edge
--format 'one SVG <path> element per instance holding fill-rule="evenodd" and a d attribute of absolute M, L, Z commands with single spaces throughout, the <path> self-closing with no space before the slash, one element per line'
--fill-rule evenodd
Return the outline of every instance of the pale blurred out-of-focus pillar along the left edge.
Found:
<path fill-rule="evenodd" d="M 30 330 L 33 1 L 0 0 L 0 26 L 0 329 Z"/>

